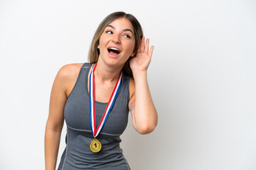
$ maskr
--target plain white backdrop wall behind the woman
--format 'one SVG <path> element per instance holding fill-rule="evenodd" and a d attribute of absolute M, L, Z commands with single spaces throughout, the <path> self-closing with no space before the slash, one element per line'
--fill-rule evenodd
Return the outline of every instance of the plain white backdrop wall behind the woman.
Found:
<path fill-rule="evenodd" d="M 131 168 L 255 170 L 253 0 L 0 0 L 0 169 L 44 169 L 55 75 L 87 62 L 114 11 L 136 16 L 155 46 L 148 79 L 159 124 L 139 135 L 129 117 L 121 147 Z M 64 147 L 65 127 L 59 155 Z"/>

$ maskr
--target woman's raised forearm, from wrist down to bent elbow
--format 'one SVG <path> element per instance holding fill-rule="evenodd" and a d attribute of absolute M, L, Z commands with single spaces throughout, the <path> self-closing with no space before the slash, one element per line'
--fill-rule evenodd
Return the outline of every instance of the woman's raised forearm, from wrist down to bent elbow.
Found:
<path fill-rule="evenodd" d="M 157 112 L 149 91 L 146 71 L 134 73 L 135 82 L 135 106 L 134 128 L 142 134 L 154 130 L 157 125 Z"/>

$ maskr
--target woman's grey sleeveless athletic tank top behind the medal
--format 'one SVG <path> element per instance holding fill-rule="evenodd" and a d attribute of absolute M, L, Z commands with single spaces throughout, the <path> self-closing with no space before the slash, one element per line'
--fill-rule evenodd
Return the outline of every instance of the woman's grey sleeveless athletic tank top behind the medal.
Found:
<path fill-rule="evenodd" d="M 64 117 L 67 125 L 66 147 L 60 159 L 58 170 L 78 169 L 129 169 L 119 147 L 120 135 L 127 127 L 129 102 L 129 77 L 122 77 L 112 111 L 96 137 L 102 143 L 100 152 L 90 151 L 93 139 L 90 128 L 89 92 L 87 77 L 92 64 L 82 64 L 78 79 L 65 103 Z M 107 103 L 95 101 L 96 127 L 99 125 Z"/>

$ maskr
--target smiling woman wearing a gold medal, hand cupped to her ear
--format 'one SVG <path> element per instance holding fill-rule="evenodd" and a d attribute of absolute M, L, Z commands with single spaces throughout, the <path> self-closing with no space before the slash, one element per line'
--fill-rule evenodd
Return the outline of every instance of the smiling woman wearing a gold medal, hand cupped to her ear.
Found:
<path fill-rule="evenodd" d="M 64 117 L 67 147 L 58 169 L 129 169 L 119 147 L 128 112 L 141 134 L 157 124 L 146 79 L 153 48 L 134 16 L 111 13 L 92 39 L 90 63 L 59 70 L 46 124 L 47 170 L 55 169 Z"/>

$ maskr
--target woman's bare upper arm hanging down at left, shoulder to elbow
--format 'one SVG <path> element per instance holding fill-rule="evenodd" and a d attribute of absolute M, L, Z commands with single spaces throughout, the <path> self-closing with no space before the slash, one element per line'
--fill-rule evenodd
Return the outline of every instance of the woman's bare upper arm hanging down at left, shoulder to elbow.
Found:
<path fill-rule="evenodd" d="M 68 64 L 60 68 L 53 82 L 50 93 L 49 115 L 47 128 L 61 131 L 64 123 L 64 107 L 67 101 L 70 84 L 74 84 L 75 69 L 73 64 Z"/>

